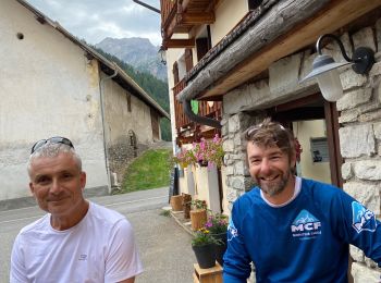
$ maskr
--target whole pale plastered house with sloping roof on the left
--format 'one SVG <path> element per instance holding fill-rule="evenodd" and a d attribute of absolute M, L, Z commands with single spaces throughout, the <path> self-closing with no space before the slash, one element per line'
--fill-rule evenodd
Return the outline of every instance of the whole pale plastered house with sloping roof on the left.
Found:
<path fill-rule="evenodd" d="M 161 139 L 159 121 L 169 114 L 119 66 L 23 0 L 1 1 L 0 30 L 0 207 L 30 199 L 29 150 L 56 135 L 82 156 L 85 192 L 109 193 L 126 162 Z"/>

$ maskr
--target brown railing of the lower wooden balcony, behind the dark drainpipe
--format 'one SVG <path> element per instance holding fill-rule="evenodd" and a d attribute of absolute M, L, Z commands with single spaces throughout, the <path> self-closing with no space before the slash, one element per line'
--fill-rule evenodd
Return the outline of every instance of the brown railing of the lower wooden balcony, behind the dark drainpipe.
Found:
<path fill-rule="evenodd" d="M 181 132 L 181 128 L 195 128 L 195 122 L 190 121 L 187 115 L 184 113 L 183 104 L 177 101 L 176 96 L 185 88 L 185 81 L 182 79 L 179 84 L 173 87 L 174 95 L 174 112 L 175 112 L 175 125 L 177 133 Z M 221 110 L 222 102 L 213 101 L 212 104 L 208 101 L 198 101 L 198 115 L 209 116 L 212 119 L 221 120 Z"/>

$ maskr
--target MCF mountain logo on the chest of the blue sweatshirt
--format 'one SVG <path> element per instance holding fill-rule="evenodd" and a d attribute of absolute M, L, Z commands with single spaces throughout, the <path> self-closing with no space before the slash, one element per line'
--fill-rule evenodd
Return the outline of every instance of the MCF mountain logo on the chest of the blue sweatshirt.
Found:
<path fill-rule="evenodd" d="M 293 237 L 300 239 L 316 238 L 321 234 L 321 222 L 309 211 L 303 209 L 291 224 Z"/>

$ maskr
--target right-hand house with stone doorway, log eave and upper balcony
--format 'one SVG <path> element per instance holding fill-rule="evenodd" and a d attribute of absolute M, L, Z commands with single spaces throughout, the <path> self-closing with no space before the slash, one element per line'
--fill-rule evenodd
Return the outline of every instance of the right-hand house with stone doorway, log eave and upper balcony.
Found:
<path fill-rule="evenodd" d="M 186 113 L 186 107 L 176 104 L 193 99 L 221 101 L 220 125 L 205 124 L 221 126 L 228 205 L 251 186 L 242 134 L 272 116 L 302 144 L 302 176 L 342 187 L 380 218 L 381 2 L 220 0 L 205 1 L 204 10 L 194 5 L 202 1 L 168 2 L 161 1 L 162 45 L 172 110 Z M 376 63 L 364 75 L 351 66 L 339 69 L 344 95 L 336 102 L 323 99 L 315 79 L 300 83 L 324 34 L 339 37 L 349 58 L 358 47 L 374 52 Z M 325 40 L 321 47 L 336 62 L 345 61 L 336 41 Z M 190 69 L 185 60 L 189 54 Z M 176 70 L 188 70 L 181 85 L 175 84 L 182 73 Z M 176 121 L 181 115 L 175 113 Z M 173 130 L 179 140 L 183 132 Z M 371 260 L 354 247 L 351 256 L 354 282 L 379 282 Z"/>

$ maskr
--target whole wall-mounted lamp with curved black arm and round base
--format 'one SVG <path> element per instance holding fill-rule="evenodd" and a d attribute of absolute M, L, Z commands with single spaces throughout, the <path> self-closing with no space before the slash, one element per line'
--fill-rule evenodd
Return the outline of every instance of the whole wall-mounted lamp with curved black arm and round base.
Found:
<path fill-rule="evenodd" d="M 340 50 L 347 62 L 336 63 L 332 57 L 321 53 L 321 41 L 327 37 L 337 41 Z M 364 75 L 367 74 L 374 64 L 373 50 L 368 47 L 358 47 L 351 59 L 345 52 L 343 42 L 335 35 L 327 34 L 320 36 L 316 42 L 316 49 L 318 51 L 318 57 L 314 60 L 312 71 L 305 78 L 303 78 L 300 83 L 316 77 L 318 79 L 321 94 L 328 101 L 336 101 L 343 96 L 343 86 L 336 70 L 337 67 L 353 64 L 352 69 L 357 74 Z"/>

